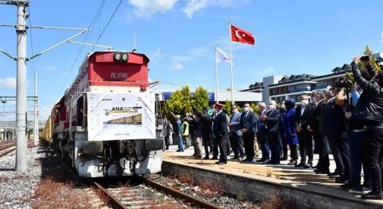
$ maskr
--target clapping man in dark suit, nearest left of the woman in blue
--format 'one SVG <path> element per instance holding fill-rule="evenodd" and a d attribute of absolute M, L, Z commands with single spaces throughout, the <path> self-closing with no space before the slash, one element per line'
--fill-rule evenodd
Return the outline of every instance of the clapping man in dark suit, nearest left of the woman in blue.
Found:
<path fill-rule="evenodd" d="M 279 120 L 281 119 L 281 112 L 276 107 L 277 103 L 270 100 L 269 111 L 266 114 L 261 114 L 261 119 L 266 122 L 267 139 L 271 148 L 270 164 L 280 163 Z"/>

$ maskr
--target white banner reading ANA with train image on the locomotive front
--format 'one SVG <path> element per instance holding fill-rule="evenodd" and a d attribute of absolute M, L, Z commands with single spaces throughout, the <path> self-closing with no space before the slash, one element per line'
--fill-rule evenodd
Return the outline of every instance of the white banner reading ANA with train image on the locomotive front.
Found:
<path fill-rule="evenodd" d="M 155 94 L 87 93 L 88 141 L 154 139 Z"/>

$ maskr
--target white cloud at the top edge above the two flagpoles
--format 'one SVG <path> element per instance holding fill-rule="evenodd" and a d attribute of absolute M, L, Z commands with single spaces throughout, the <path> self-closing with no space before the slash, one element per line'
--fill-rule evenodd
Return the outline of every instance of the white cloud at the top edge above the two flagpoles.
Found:
<path fill-rule="evenodd" d="M 203 8 L 208 6 L 219 6 L 219 7 L 238 7 L 250 0 L 188 0 L 183 12 L 192 18 L 195 12 L 201 12 Z"/>

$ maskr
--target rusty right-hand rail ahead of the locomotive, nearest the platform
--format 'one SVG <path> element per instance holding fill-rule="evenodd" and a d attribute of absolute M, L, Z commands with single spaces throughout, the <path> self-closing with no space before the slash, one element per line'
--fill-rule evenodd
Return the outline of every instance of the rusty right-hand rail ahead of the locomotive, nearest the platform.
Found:
<path fill-rule="evenodd" d="M 161 190 L 167 194 L 170 194 L 172 195 L 173 197 L 178 197 L 178 198 L 181 198 L 181 199 L 185 199 L 187 202 L 189 203 L 192 203 L 194 205 L 197 205 L 197 206 L 200 206 L 202 208 L 205 208 L 205 209 L 221 209 L 217 206 L 214 206 L 212 205 L 211 203 L 208 203 L 208 202 L 205 202 L 199 198 L 194 198 L 190 195 L 187 195 L 183 192 L 180 192 L 178 190 L 175 190 L 175 189 L 172 189 L 170 187 L 167 187 L 167 186 L 164 186 L 162 184 L 159 184 L 157 182 L 154 182 L 152 180 L 149 180 L 149 179 L 146 179 L 146 178 L 143 178 L 141 177 L 141 180 L 144 182 L 144 184 L 147 184 L 149 186 L 152 186 L 158 190 Z"/>

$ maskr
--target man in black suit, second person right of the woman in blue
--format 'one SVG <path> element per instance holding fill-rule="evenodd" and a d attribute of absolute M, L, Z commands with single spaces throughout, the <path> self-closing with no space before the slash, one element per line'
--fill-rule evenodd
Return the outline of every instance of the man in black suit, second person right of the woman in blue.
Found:
<path fill-rule="evenodd" d="M 326 146 L 326 138 L 323 137 L 321 133 L 321 117 L 322 110 L 324 105 L 326 104 L 325 94 L 322 91 L 313 92 L 311 98 L 313 99 L 314 107 L 313 111 L 309 117 L 309 125 L 307 126 L 307 130 L 313 132 L 314 140 L 315 140 L 315 149 L 319 154 L 319 162 L 316 166 L 317 169 L 314 172 L 318 174 L 329 174 L 330 173 L 330 159 L 329 159 L 329 150 Z"/>

